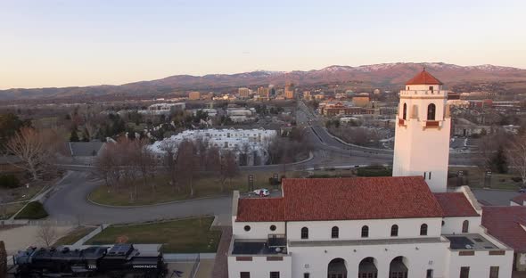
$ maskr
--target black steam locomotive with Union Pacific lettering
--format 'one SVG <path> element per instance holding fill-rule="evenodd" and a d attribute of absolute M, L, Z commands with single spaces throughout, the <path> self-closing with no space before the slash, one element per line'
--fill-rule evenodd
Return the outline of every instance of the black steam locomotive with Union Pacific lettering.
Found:
<path fill-rule="evenodd" d="M 160 252 L 141 252 L 132 244 L 86 249 L 29 248 L 14 257 L 15 277 L 144 277 L 168 274 Z"/>

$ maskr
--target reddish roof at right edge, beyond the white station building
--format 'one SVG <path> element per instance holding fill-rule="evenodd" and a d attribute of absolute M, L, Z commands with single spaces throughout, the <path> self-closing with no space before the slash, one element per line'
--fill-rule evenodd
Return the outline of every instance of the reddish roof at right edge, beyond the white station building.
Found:
<path fill-rule="evenodd" d="M 482 225 L 488 233 L 516 252 L 526 251 L 526 207 L 484 207 Z"/>

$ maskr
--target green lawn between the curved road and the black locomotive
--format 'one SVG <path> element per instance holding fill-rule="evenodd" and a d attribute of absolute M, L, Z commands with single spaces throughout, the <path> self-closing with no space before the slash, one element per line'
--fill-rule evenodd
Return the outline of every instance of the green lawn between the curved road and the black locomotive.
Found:
<path fill-rule="evenodd" d="M 86 244 L 162 243 L 167 253 L 209 253 L 218 249 L 220 231 L 210 231 L 214 217 L 187 218 L 138 225 L 112 225 Z"/>

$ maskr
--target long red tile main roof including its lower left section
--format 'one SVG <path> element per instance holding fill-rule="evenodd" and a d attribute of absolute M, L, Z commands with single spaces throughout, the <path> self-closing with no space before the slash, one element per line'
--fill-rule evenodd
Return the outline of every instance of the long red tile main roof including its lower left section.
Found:
<path fill-rule="evenodd" d="M 274 204 L 240 200 L 237 221 L 442 217 L 422 176 L 292 178 L 284 179 L 283 190 L 284 197 Z"/>

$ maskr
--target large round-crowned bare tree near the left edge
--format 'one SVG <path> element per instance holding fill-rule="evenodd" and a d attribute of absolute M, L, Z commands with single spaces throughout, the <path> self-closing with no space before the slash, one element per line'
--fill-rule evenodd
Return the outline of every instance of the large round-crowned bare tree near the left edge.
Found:
<path fill-rule="evenodd" d="M 27 170 L 37 180 L 40 172 L 52 164 L 59 143 L 51 130 L 22 127 L 6 144 L 6 150 L 21 159 L 21 164 L 13 163 L 13 166 Z"/>

